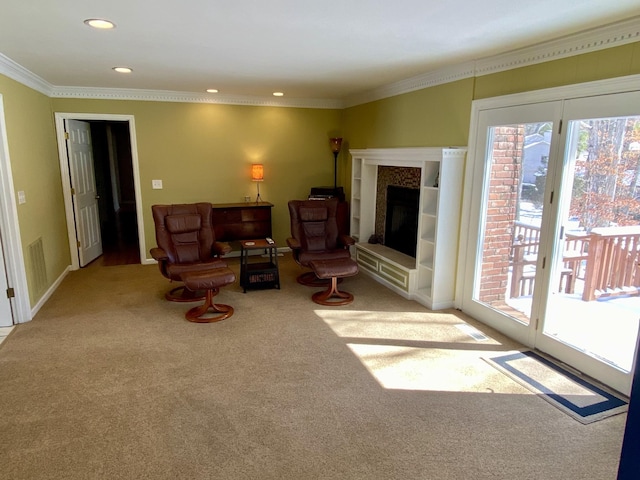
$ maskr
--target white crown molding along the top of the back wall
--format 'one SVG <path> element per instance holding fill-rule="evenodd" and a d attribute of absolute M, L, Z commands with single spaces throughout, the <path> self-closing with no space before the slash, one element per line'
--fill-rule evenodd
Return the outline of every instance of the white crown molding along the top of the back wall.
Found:
<path fill-rule="evenodd" d="M 94 100 L 138 100 L 148 102 L 214 103 L 259 107 L 292 107 L 341 109 L 342 100 L 256 97 L 251 95 L 225 95 L 178 92 L 171 90 L 137 90 L 121 88 L 54 87 L 53 98 L 87 98 Z"/>

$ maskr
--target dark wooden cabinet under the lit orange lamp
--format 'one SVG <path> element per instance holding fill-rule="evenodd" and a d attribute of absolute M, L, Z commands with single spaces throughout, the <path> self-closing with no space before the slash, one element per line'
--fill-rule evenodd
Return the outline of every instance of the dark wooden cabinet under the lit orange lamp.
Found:
<path fill-rule="evenodd" d="M 214 203 L 213 229 L 216 240 L 230 242 L 271 237 L 271 208 L 269 202 Z"/>

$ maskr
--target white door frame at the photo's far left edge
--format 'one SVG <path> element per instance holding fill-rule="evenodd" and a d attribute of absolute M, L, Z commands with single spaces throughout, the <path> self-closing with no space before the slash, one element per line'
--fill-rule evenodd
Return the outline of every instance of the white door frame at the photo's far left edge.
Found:
<path fill-rule="evenodd" d="M 0 230 L 5 249 L 6 274 L 9 286 L 13 287 L 13 321 L 24 323 L 31 320 L 31 305 L 29 303 L 29 288 L 25 271 L 22 240 L 20 238 L 20 224 L 16 206 L 15 191 L 13 189 L 13 174 L 9 158 L 9 143 L 4 119 L 4 103 L 0 94 Z M 1 294 L 2 292 L 0 292 Z"/>

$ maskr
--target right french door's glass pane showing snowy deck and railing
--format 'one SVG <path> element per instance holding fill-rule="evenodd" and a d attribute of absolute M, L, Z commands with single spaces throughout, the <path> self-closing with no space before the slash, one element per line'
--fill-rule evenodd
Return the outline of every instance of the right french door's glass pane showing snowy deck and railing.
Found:
<path fill-rule="evenodd" d="M 560 342 L 624 378 L 640 318 L 640 116 L 571 120 L 566 145 L 538 343 Z"/>

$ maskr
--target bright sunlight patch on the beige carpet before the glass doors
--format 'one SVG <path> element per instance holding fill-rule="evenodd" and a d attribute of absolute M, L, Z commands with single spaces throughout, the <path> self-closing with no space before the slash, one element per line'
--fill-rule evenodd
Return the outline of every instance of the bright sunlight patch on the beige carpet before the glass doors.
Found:
<path fill-rule="evenodd" d="M 460 317 L 451 313 L 315 313 L 383 388 L 475 393 L 521 390 L 502 380 L 503 375 L 481 359 L 487 351 L 503 350 L 502 345 L 471 325 L 461 328 Z"/>

